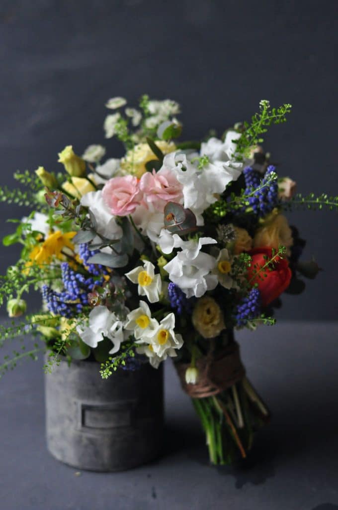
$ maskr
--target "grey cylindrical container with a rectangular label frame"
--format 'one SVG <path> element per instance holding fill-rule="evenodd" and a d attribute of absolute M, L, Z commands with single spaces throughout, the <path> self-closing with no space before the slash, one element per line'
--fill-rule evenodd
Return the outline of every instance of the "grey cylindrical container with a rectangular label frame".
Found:
<path fill-rule="evenodd" d="M 50 453 L 78 469 L 123 471 L 154 460 L 163 438 L 163 370 L 118 369 L 62 360 L 45 375 Z"/>

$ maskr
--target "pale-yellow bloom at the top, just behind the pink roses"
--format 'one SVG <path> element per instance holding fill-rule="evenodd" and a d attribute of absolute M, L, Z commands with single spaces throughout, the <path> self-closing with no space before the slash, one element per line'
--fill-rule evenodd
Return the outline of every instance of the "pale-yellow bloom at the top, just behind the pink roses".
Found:
<path fill-rule="evenodd" d="M 155 140 L 155 143 L 163 154 L 169 154 L 176 150 L 174 142 Z M 133 149 L 128 150 L 126 156 L 121 160 L 121 168 L 136 175 L 139 179 L 147 171 L 146 163 L 155 159 L 156 156 L 148 143 L 138 143 Z"/>

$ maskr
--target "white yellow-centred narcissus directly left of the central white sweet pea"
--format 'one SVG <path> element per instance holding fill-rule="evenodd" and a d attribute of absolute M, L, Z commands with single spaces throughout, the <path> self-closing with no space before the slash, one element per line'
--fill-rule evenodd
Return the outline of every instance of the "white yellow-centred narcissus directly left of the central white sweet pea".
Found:
<path fill-rule="evenodd" d="M 135 269 L 125 274 L 132 283 L 138 284 L 138 295 L 147 296 L 151 303 L 159 301 L 162 288 L 161 276 L 155 274 L 154 269 L 154 264 L 145 260 L 143 267 L 135 267 Z"/>

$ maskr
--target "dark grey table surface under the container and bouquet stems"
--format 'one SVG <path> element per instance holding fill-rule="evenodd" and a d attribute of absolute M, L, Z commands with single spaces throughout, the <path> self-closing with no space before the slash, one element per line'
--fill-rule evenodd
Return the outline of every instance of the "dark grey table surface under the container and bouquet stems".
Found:
<path fill-rule="evenodd" d="M 279 323 L 237 334 L 273 418 L 245 466 L 208 466 L 203 435 L 165 365 L 165 452 L 122 473 L 65 466 L 45 448 L 42 361 L 0 382 L 1 510 L 338 509 L 338 323 Z"/>

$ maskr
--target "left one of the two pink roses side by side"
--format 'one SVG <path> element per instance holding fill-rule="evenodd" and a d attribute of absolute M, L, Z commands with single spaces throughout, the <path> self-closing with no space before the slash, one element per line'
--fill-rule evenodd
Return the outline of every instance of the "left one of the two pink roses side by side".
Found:
<path fill-rule="evenodd" d="M 137 177 L 113 177 L 104 185 L 102 196 L 111 214 L 127 216 L 133 213 L 141 198 Z"/>

